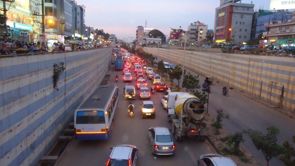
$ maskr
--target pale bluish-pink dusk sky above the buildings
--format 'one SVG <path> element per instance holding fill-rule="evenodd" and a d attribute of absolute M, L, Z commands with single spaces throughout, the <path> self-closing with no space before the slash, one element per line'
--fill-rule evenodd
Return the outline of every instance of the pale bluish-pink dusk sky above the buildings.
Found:
<path fill-rule="evenodd" d="M 215 8 L 220 0 L 75 0 L 85 5 L 85 25 L 120 37 L 135 37 L 136 27 L 158 29 L 169 35 L 170 27 L 183 30 L 193 22 L 204 22 L 214 29 Z M 269 10 L 270 0 L 252 0 L 254 11 Z M 251 0 L 242 0 L 250 4 Z M 131 40 L 131 38 L 130 38 Z M 133 38 L 135 40 L 135 38 Z"/>

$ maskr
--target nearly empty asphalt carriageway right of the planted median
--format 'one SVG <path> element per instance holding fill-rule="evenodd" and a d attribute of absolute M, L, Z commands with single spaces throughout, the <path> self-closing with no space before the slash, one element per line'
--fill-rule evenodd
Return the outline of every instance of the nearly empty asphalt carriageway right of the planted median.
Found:
<path fill-rule="evenodd" d="M 160 60 L 163 59 L 159 58 L 159 61 Z M 167 59 L 164 59 L 164 61 L 169 63 Z M 188 69 L 186 69 L 186 72 L 190 72 L 195 76 L 198 75 L 196 72 Z M 204 83 L 204 77 L 199 75 L 199 79 L 200 85 L 202 85 Z M 255 129 L 267 134 L 266 128 L 274 126 L 280 130 L 277 143 L 283 145 L 284 141 L 289 141 L 290 144 L 295 147 L 292 141 L 292 136 L 295 135 L 294 119 L 241 95 L 237 90 L 229 89 L 229 97 L 225 97 L 222 95 L 223 86 L 228 86 L 228 84 L 217 83 L 216 80 L 214 80 L 209 95 L 209 114 L 216 119 L 216 110 L 222 108 L 224 114 L 230 115 L 229 119 L 224 119 L 222 122 L 225 130 L 230 134 L 235 134 L 236 131 Z M 242 143 L 242 146 L 250 152 L 261 165 L 266 165 L 263 153 L 256 149 L 250 137 L 244 134 L 243 139 L 245 139 L 245 142 Z M 277 165 L 283 165 L 283 162 L 281 162 L 278 157 L 272 158 L 269 162 L 269 166 Z"/>

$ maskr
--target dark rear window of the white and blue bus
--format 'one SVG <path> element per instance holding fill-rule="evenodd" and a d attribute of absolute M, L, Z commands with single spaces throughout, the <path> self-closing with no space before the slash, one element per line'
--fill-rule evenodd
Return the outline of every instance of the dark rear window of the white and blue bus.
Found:
<path fill-rule="evenodd" d="M 76 124 L 106 123 L 104 111 L 78 111 Z"/>

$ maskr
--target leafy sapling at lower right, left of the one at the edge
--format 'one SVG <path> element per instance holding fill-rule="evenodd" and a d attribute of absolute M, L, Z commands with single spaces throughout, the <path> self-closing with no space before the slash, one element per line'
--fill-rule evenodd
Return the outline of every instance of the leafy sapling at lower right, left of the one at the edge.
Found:
<path fill-rule="evenodd" d="M 273 126 L 268 127 L 267 130 L 268 134 L 266 135 L 263 135 L 260 131 L 251 129 L 248 130 L 248 134 L 251 137 L 256 149 L 261 150 L 263 153 L 268 166 L 268 162 L 273 157 L 283 154 L 284 147 L 276 144 L 277 134 L 279 134 L 280 130 Z"/>

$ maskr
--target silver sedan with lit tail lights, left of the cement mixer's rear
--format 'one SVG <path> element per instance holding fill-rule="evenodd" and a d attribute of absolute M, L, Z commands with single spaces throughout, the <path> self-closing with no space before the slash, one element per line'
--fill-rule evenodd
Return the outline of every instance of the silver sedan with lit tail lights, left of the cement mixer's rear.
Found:
<path fill-rule="evenodd" d="M 148 136 L 152 154 L 171 155 L 175 152 L 175 144 L 173 142 L 170 131 L 166 127 L 152 127 L 148 129 Z"/>

